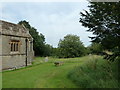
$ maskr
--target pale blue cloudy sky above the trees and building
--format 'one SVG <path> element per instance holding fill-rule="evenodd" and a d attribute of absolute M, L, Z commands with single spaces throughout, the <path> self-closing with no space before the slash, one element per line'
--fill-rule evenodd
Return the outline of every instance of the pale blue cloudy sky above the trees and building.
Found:
<path fill-rule="evenodd" d="M 85 46 L 90 45 L 87 28 L 79 23 L 80 12 L 88 10 L 87 2 L 4 2 L 0 4 L 2 17 L 12 23 L 26 20 L 45 36 L 45 41 L 57 47 L 67 34 L 80 37 Z"/>

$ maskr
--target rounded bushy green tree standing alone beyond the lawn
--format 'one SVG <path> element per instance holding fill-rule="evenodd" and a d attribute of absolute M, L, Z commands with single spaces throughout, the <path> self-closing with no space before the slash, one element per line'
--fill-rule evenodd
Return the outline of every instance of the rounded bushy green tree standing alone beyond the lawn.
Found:
<path fill-rule="evenodd" d="M 85 54 L 85 47 L 76 35 L 66 35 L 58 44 L 59 57 L 79 57 Z"/>

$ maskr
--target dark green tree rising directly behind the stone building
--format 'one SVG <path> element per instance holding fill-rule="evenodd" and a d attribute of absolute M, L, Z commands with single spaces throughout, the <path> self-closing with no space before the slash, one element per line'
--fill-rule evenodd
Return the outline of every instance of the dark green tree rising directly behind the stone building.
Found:
<path fill-rule="evenodd" d="M 33 37 L 33 49 L 35 55 L 43 56 L 45 49 L 45 37 L 43 34 L 39 34 L 37 29 L 32 27 L 27 21 L 20 21 L 18 24 L 24 25 L 30 32 L 30 35 Z"/>

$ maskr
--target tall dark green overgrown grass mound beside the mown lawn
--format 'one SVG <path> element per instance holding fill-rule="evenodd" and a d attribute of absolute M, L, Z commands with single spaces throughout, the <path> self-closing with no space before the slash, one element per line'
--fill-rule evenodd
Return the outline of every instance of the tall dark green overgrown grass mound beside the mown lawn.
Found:
<path fill-rule="evenodd" d="M 91 58 L 70 71 L 68 77 L 81 88 L 118 88 L 118 61 Z"/>

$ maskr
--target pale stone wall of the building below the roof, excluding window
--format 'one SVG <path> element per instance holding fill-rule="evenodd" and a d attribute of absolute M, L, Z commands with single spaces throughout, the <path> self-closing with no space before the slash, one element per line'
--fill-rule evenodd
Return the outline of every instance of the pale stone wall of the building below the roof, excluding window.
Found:
<path fill-rule="evenodd" d="M 19 68 L 26 65 L 26 38 L 12 37 L 2 35 L 2 69 Z M 21 42 L 19 52 L 11 52 L 9 42 L 19 40 Z M 29 48 L 30 42 L 27 42 L 27 64 L 33 61 L 33 49 Z"/>

